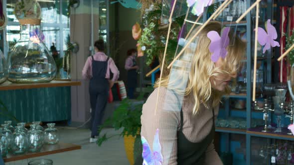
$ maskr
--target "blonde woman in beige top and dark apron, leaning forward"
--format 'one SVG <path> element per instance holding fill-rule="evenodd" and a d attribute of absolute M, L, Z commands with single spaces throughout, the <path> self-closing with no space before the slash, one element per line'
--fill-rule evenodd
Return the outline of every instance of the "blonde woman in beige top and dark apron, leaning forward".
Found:
<path fill-rule="evenodd" d="M 178 74 L 163 78 L 143 106 L 141 136 L 152 149 L 158 129 L 162 165 L 222 165 L 213 145 L 214 120 L 222 95 L 230 93 L 228 83 L 237 75 L 245 44 L 230 32 L 226 57 L 213 62 L 207 33 L 216 31 L 220 35 L 221 30 L 220 22 L 206 25 L 194 42 L 190 65 L 182 67 L 185 70 Z M 191 52 L 186 51 L 183 57 L 189 54 Z"/>

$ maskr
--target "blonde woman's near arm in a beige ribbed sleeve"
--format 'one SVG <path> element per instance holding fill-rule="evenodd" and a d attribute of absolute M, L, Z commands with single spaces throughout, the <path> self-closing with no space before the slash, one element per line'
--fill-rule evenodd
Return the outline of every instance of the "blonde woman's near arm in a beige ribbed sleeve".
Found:
<path fill-rule="evenodd" d="M 141 136 L 147 139 L 152 149 L 156 129 L 159 130 L 159 143 L 163 157 L 162 165 L 177 165 L 177 130 L 180 122 L 180 109 L 172 92 L 160 87 L 159 102 L 155 111 L 157 89 L 148 97 L 141 116 Z"/>

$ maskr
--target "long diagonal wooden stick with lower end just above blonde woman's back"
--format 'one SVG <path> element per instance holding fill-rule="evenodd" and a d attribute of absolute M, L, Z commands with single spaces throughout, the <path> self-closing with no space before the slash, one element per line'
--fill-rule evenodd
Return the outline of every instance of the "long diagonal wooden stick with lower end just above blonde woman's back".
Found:
<path fill-rule="evenodd" d="M 225 0 L 224 3 L 228 1 Z M 229 3 L 232 1 L 229 1 Z M 193 35 L 193 37 L 187 42 L 187 44 L 183 47 L 183 49 L 180 51 L 180 53 L 172 60 L 172 62 L 169 64 L 169 66 L 167 67 L 167 69 L 170 69 L 170 67 L 172 66 L 172 64 L 183 54 L 183 52 L 185 51 L 185 49 L 190 45 L 190 43 L 196 38 L 196 36 L 201 32 L 201 30 L 204 29 L 204 27 L 209 23 L 209 21 L 211 21 L 211 19 L 216 15 L 216 13 L 221 9 L 222 5 L 219 6 L 217 8 L 217 10 L 207 19 L 206 22 L 204 22 L 204 24 L 198 29 L 198 31 Z"/>

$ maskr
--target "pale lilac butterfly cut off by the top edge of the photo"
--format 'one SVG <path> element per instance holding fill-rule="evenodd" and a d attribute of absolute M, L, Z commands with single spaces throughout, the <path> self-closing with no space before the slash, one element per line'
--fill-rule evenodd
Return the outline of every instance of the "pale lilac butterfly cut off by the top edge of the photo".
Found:
<path fill-rule="evenodd" d="M 187 4 L 188 7 L 191 7 L 194 4 L 192 8 L 192 13 L 199 16 L 203 13 L 204 7 L 210 6 L 212 4 L 212 1 L 213 0 L 187 0 Z"/>

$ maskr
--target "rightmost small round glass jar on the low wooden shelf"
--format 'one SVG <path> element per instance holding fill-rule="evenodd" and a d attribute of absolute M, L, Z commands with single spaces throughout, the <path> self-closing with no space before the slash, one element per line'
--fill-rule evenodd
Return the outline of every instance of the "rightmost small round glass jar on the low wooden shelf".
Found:
<path fill-rule="evenodd" d="M 44 131 L 44 141 L 46 144 L 57 144 L 59 142 L 59 132 L 54 128 L 55 123 L 48 123 L 48 128 Z"/>

